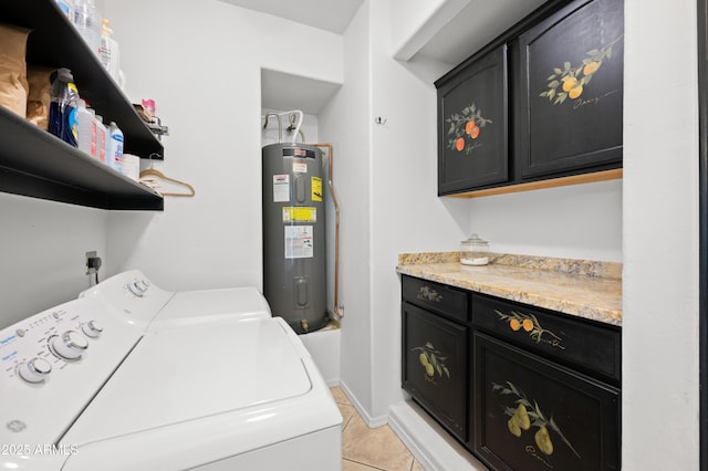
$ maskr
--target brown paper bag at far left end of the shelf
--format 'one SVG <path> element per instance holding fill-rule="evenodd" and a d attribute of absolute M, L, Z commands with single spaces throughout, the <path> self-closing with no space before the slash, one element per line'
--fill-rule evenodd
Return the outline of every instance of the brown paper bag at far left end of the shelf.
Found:
<path fill-rule="evenodd" d="M 24 117 L 27 113 L 27 36 L 30 30 L 0 24 L 0 105 Z"/>

